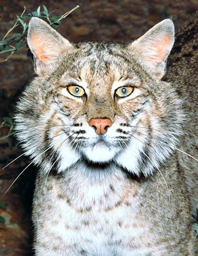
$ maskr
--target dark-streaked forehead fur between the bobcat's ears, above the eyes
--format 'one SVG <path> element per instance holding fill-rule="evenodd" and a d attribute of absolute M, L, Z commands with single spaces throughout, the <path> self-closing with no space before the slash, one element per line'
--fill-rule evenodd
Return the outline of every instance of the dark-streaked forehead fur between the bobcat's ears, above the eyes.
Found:
<path fill-rule="evenodd" d="M 93 80 L 119 80 L 135 75 L 133 62 L 126 54 L 126 46 L 117 43 L 89 42 L 77 44 L 71 63 L 71 75 L 87 83 Z"/>

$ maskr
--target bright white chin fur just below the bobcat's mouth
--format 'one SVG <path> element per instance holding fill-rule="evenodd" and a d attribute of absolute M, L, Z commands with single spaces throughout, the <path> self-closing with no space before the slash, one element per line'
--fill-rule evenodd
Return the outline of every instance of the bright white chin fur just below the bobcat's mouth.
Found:
<path fill-rule="evenodd" d="M 83 154 L 88 160 L 97 163 L 106 163 L 111 161 L 116 153 L 115 148 L 109 149 L 108 147 L 101 145 L 93 148 L 85 148 L 83 150 Z"/>

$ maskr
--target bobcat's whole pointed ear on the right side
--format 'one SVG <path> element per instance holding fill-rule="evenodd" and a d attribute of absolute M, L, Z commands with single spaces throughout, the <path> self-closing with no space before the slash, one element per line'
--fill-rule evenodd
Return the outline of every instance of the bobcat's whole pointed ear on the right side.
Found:
<path fill-rule="evenodd" d="M 135 53 L 147 71 L 161 79 L 165 74 L 167 57 L 174 43 L 174 25 L 165 19 L 141 38 L 129 45 L 130 52 Z"/>

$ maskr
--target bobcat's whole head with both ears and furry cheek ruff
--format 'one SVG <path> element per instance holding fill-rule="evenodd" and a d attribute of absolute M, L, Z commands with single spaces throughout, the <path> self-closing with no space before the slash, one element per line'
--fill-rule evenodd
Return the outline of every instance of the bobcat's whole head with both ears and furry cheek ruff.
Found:
<path fill-rule="evenodd" d="M 42 20 L 31 20 L 28 43 L 38 77 L 18 105 L 16 122 L 35 163 L 46 172 L 89 163 L 148 175 L 170 155 L 181 113 L 171 85 L 160 81 L 173 25 L 159 24 L 127 45 L 71 44 Z"/>

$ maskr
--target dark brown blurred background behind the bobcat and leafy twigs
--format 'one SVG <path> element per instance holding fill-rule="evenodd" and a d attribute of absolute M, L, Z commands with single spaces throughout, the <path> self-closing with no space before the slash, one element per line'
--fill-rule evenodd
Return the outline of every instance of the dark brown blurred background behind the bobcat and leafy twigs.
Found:
<path fill-rule="evenodd" d="M 24 6 L 35 11 L 39 5 L 49 11 L 63 14 L 80 8 L 67 16 L 57 30 L 68 40 L 129 42 L 137 39 L 149 28 L 173 16 L 176 31 L 188 23 L 198 9 L 198 0 L 1 0 L 0 40 L 13 27 L 16 15 L 21 15 Z M 16 31 L 21 30 L 18 26 Z M 33 63 L 27 56 L 28 48 L 16 52 L 0 63 L 0 256 L 32 255 L 31 204 L 36 168 L 30 166 L 14 183 L 4 197 L 2 194 L 29 164 L 20 157 L 7 168 L 22 151 L 14 137 L 5 137 L 9 127 L 4 127 L 4 117 L 12 118 L 15 102 L 21 91 L 32 79 Z M 6 58 L 0 54 L 0 60 Z"/>

